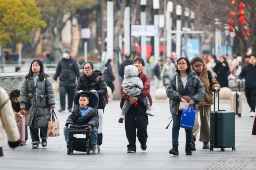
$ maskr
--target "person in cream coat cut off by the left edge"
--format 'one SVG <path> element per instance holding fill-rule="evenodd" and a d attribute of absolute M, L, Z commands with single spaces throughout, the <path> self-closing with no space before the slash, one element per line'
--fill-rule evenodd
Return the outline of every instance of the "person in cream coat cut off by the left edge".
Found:
<path fill-rule="evenodd" d="M 19 146 L 20 132 L 15 121 L 9 95 L 0 87 L 0 156 L 3 156 L 4 132 L 6 131 L 8 144 L 11 148 Z"/>

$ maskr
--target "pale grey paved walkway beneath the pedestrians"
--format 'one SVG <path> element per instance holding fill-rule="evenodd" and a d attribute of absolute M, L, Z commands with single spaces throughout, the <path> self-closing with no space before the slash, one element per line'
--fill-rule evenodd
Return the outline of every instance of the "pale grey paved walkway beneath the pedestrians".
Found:
<path fill-rule="evenodd" d="M 152 89 L 153 91 L 154 89 Z M 153 94 L 153 93 L 152 93 Z M 153 94 L 154 95 L 154 94 Z M 119 101 L 111 101 L 104 113 L 103 144 L 100 154 L 76 152 L 67 155 L 63 126 L 68 112 L 56 113 L 60 122 L 61 135 L 48 138 L 46 148 L 32 149 L 29 137 L 25 146 L 15 150 L 7 146 L 5 138 L 4 157 L 0 157 L 0 170 L 204 170 L 204 169 L 256 169 L 256 136 L 252 136 L 253 118 L 249 117 L 249 107 L 243 99 L 242 117 L 236 116 L 236 151 L 226 148 L 225 152 L 214 148 L 213 152 L 202 149 L 202 142 L 196 142 L 197 151 L 185 154 L 185 131 L 180 130 L 180 156 L 169 154 L 171 148 L 171 127 L 166 130 L 171 116 L 168 101 L 154 102 L 152 110 L 156 116 L 149 117 L 147 150 L 126 153 L 128 141 L 124 124 L 118 122 L 121 109 Z M 221 103 L 221 109 L 230 110 L 230 103 Z"/>

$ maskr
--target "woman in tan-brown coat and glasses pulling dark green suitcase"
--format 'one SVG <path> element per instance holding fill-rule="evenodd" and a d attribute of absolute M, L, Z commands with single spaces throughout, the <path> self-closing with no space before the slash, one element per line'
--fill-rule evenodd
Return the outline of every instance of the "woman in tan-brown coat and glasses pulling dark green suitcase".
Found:
<path fill-rule="evenodd" d="M 191 61 L 191 69 L 196 72 L 196 75 L 204 84 L 204 98 L 199 102 L 196 112 L 195 123 L 193 128 L 193 138 L 191 144 L 191 150 L 196 150 L 195 141 L 197 139 L 197 133 L 199 131 L 198 112 L 200 112 L 200 137 L 199 141 L 203 142 L 203 149 L 209 149 L 210 141 L 210 112 L 211 105 L 213 104 L 212 91 L 218 91 L 220 89 L 219 83 L 214 78 L 213 74 L 208 71 L 208 67 L 204 64 L 202 58 L 195 57 Z"/>

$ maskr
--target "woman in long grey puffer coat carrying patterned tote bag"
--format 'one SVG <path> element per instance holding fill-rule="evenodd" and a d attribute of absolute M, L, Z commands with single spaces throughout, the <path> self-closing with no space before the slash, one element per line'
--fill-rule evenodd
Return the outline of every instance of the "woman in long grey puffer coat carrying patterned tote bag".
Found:
<path fill-rule="evenodd" d="M 20 92 L 20 108 L 25 109 L 28 101 L 26 114 L 26 126 L 30 126 L 32 148 L 39 148 L 40 139 L 42 146 L 47 146 L 47 125 L 50 119 L 51 110 L 54 110 L 55 98 L 52 82 L 44 72 L 43 62 L 39 59 L 32 61 L 30 71 Z"/>

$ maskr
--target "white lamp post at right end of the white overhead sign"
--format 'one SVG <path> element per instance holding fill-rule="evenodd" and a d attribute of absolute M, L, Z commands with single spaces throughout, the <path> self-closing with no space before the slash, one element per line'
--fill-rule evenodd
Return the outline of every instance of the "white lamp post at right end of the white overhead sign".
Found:
<path fill-rule="evenodd" d="M 153 0 L 153 8 L 154 8 L 154 25 L 159 26 L 159 0 Z M 159 58 L 159 35 L 154 37 L 154 56 L 155 62 L 157 64 Z"/>

